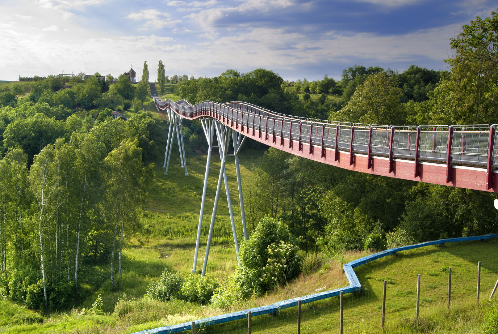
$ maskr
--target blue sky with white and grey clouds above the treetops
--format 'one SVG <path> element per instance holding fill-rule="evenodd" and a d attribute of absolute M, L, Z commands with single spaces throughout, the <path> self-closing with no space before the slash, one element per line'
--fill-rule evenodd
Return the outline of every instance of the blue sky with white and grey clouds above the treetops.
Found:
<path fill-rule="evenodd" d="M 449 39 L 491 0 L 1 0 L 0 80 L 80 73 L 150 80 L 265 68 L 340 79 L 354 65 L 447 69 Z"/>

